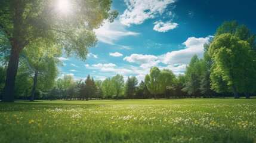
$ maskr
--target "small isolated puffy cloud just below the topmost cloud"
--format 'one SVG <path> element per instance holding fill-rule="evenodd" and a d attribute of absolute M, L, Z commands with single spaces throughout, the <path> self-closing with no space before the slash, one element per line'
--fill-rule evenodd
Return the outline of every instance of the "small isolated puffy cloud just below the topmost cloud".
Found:
<path fill-rule="evenodd" d="M 153 30 L 156 30 L 158 32 L 168 32 L 169 30 L 175 29 L 178 26 L 177 23 L 171 23 L 171 21 L 166 23 L 162 21 L 157 21 L 154 24 L 155 26 Z"/>

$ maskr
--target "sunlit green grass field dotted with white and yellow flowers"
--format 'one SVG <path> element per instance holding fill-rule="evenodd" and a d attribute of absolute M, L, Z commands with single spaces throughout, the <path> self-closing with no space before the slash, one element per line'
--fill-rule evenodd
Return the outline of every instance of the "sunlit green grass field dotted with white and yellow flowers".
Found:
<path fill-rule="evenodd" d="M 0 103 L 0 142 L 256 142 L 256 98 Z"/>

